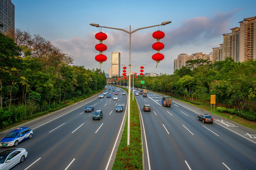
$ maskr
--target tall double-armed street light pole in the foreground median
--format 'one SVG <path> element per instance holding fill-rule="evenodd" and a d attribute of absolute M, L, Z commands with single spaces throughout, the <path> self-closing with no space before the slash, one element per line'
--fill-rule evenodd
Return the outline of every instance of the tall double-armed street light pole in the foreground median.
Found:
<path fill-rule="evenodd" d="M 170 24 L 172 21 L 165 21 L 162 22 L 162 24 L 159 25 L 155 25 L 155 26 L 165 26 L 166 24 Z M 151 27 L 155 27 L 155 26 L 146 26 L 146 27 L 142 27 L 142 28 L 137 28 L 136 30 L 131 31 L 131 26 L 130 26 L 130 31 L 121 29 L 121 28 L 113 28 L 113 27 L 108 27 L 108 26 L 100 26 L 99 24 L 94 24 L 91 23 L 91 26 L 96 26 L 96 27 L 101 27 L 101 28 L 109 28 L 109 29 L 115 29 L 115 30 L 120 30 L 120 31 L 124 31 L 126 33 L 128 33 L 130 35 L 129 37 L 129 82 L 128 82 L 128 127 L 127 127 L 127 145 L 130 145 L 130 91 L 131 91 L 131 34 L 141 30 L 141 29 L 146 29 L 146 28 L 151 28 Z"/>

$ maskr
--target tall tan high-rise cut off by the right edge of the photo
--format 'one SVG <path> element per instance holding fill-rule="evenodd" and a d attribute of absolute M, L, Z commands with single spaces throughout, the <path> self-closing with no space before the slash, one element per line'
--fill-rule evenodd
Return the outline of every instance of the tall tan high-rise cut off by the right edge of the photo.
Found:
<path fill-rule="evenodd" d="M 239 61 L 256 59 L 256 17 L 244 18 L 240 21 Z"/>

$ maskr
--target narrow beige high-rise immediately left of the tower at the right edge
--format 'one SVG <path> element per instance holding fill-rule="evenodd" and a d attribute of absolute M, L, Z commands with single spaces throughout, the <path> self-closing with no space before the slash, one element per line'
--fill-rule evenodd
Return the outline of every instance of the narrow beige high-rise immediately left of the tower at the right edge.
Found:
<path fill-rule="evenodd" d="M 235 62 L 239 62 L 239 36 L 240 36 L 240 28 L 235 27 L 230 29 L 232 31 L 231 34 L 231 57 L 235 60 Z"/>

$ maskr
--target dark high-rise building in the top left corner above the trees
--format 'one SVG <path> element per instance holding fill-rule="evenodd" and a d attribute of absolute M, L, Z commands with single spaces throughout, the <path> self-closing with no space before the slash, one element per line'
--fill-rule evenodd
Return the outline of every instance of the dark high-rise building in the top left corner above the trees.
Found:
<path fill-rule="evenodd" d="M 11 0 L 0 0 L 0 32 L 7 34 L 8 32 L 14 34 L 14 5 Z"/>

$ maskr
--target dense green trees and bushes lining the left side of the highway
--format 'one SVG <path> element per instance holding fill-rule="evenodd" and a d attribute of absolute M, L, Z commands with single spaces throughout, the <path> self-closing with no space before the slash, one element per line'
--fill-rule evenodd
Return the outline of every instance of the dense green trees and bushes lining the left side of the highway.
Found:
<path fill-rule="evenodd" d="M 0 129 L 58 110 L 104 89 L 100 69 L 73 59 L 39 35 L 0 34 Z"/>

